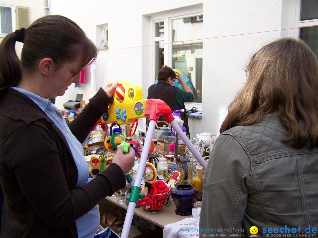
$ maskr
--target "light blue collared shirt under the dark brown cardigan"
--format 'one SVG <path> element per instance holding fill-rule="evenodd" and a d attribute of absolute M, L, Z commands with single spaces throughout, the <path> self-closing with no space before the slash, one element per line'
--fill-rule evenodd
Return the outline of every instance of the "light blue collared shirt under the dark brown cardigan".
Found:
<path fill-rule="evenodd" d="M 11 88 L 23 93 L 25 96 L 28 96 L 33 102 L 35 102 L 54 122 L 57 128 L 59 128 L 59 130 L 63 133 L 71 149 L 79 174 L 76 186 L 78 187 L 86 184 L 88 182 L 89 174 L 88 165 L 84 158 L 83 146 L 72 134 L 59 109 L 54 104 L 52 104 L 49 99 L 42 98 L 24 89 L 16 87 Z M 75 223 L 79 238 L 93 238 L 100 223 L 98 204 L 88 213 L 77 219 Z"/>

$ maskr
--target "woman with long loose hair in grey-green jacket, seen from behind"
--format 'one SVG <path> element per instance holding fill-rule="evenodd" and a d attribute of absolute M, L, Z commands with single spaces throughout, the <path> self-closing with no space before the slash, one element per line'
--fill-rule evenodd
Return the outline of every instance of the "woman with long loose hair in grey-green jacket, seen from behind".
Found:
<path fill-rule="evenodd" d="M 274 41 L 252 57 L 205 172 L 201 237 L 318 228 L 317 105 L 318 62 L 302 40 Z"/>

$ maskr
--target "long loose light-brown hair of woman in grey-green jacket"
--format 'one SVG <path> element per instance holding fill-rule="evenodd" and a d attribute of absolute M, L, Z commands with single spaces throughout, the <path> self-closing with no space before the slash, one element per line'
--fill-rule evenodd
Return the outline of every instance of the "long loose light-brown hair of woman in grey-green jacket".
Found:
<path fill-rule="evenodd" d="M 278 113 L 290 132 L 282 142 L 318 147 L 318 61 L 299 39 L 283 38 L 252 57 L 246 83 L 228 107 L 220 133 Z"/>

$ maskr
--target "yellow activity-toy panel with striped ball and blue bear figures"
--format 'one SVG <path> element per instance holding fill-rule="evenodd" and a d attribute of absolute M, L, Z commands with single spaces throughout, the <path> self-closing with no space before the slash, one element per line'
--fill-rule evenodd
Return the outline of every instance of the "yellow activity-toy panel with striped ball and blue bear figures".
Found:
<path fill-rule="evenodd" d="M 101 117 L 103 123 L 117 122 L 131 124 L 135 119 L 144 117 L 147 99 L 142 99 L 142 88 L 129 82 L 118 82 L 114 92 L 114 100 L 109 102 L 109 108 Z"/>

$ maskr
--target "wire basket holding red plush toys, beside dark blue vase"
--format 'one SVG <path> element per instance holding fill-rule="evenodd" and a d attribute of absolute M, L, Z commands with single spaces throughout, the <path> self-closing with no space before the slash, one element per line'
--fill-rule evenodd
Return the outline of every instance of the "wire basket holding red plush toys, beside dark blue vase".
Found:
<path fill-rule="evenodd" d="M 167 198 L 170 194 L 170 190 L 166 193 L 149 195 L 146 194 L 146 197 L 141 199 L 142 204 L 140 205 L 145 212 L 155 213 L 159 212 L 163 208 L 164 204 L 167 201 Z"/>

